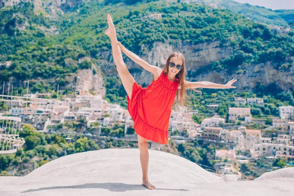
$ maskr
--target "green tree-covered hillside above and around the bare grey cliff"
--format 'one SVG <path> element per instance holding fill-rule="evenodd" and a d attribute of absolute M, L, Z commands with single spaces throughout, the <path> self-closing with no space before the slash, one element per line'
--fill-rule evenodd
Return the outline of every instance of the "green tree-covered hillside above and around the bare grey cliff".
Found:
<path fill-rule="evenodd" d="M 68 78 L 79 69 L 93 65 L 100 66 L 102 71 L 113 69 L 110 41 L 104 34 L 106 13 L 114 19 L 118 39 L 138 54 L 142 44 L 151 47 L 154 42 L 197 45 L 221 41 L 222 47 L 233 49 L 232 56 L 204 66 L 193 74 L 208 70 L 235 73 L 246 69 L 245 66 L 267 61 L 273 62 L 277 70 L 287 71 L 292 66 L 293 32 L 289 35 L 275 34 L 267 26 L 228 10 L 177 3 L 177 0 L 113 3 L 91 1 L 81 4 L 57 21 L 36 16 L 33 5 L 29 3 L 2 7 L 0 63 L 11 61 L 12 64 L 9 68 L 2 66 L 0 82 L 14 81 L 17 83 L 14 89 L 25 93 L 25 85 L 19 81 L 39 79 L 42 83 L 35 82 L 31 91 L 46 92 L 59 83 L 59 88 L 67 93 L 73 91 L 68 87 Z M 153 13 L 162 13 L 162 19 L 149 19 Z M 19 26 L 24 24 L 29 25 L 20 30 Z M 56 25 L 60 33 L 49 35 L 40 29 L 42 25 L 48 28 Z M 90 56 L 93 64 L 87 61 L 79 63 L 78 59 L 83 56 Z M 66 63 L 69 61 L 73 63 Z M 106 78 L 111 83 L 116 80 L 112 76 Z M 108 89 L 107 93 L 110 92 L 116 91 Z M 109 99 L 115 101 L 120 96 L 124 95 L 111 95 Z"/>

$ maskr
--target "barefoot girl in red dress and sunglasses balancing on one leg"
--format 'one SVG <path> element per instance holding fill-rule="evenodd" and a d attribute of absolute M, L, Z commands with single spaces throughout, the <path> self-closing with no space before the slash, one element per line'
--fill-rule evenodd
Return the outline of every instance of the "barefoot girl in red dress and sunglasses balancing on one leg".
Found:
<path fill-rule="evenodd" d="M 107 23 L 108 28 L 105 30 L 105 34 L 111 40 L 113 59 L 127 93 L 127 109 L 134 121 L 135 132 L 138 134 L 138 146 L 143 172 L 142 185 L 148 189 L 154 189 L 155 186 L 149 183 L 147 177 L 149 160 L 147 140 L 168 144 L 169 120 L 175 97 L 177 103 L 179 103 L 180 99 L 181 104 L 185 105 L 187 88 L 236 88 L 232 84 L 237 80 L 232 79 L 225 85 L 206 81 L 188 82 L 185 80 L 186 67 L 182 53 L 173 52 L 167 60 L 165 69 L 162 70 L 159 67 L 148 64 L 118 42 L 116 30 L 109 14 L 107 14 Z M 153 81 L 147 88 L 142 88 L 141 85 L 138 85 L 129 73 L 126 64 L 123 62 L 121 50 L 145 70 L 153 73 Z M 178 92 L 179 89 L 180 92 Z"/>

